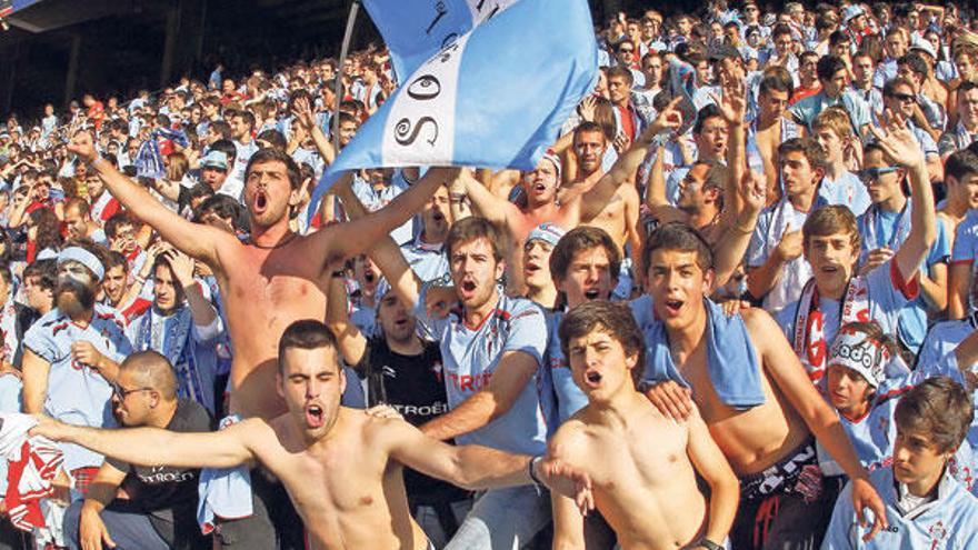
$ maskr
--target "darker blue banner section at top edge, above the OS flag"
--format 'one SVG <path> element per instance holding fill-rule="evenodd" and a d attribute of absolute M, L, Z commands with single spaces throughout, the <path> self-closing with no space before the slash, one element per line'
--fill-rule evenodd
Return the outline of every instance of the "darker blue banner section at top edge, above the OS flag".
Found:
<path fill-rule="evenodd" d="M 398 82 L 435 52 L 518 0 L 363 0 Z"/>

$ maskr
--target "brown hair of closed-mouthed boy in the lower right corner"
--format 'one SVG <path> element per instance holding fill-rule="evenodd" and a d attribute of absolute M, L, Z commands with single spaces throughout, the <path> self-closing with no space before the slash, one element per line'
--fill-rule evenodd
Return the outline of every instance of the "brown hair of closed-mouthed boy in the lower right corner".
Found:
<path fill-rule="evenodd" d="M 938 452 L 957 449 L 975 417 L 971 397 L 948 377 L 934 377 L 904 393 L 894 411 L 897 429 L 926 433 Z"/>

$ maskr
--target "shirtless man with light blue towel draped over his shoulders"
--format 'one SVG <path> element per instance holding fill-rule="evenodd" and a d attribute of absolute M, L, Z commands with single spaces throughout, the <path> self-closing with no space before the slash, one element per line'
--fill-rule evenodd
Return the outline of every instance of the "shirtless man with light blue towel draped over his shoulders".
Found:
<path fill-rule="evenodd" d="M 632 302 L 646 337 L 647 397 L 663 413 L 685 418 L 688 398 L 699 408 L 710 434 L 740 478 L 740 509 L 731 539 L 735 548 L 788 548 L 815 544 L 829 508 L 809 476 L 817 473 L 812 434 L 852 480 L 860 513 L 869 507 L 875 534 L 885 527 L 884 504 L 867 480 L 835 411 L 815 386 L 778 326 L 766 312 L 727 316 L 705 296 L 713 273 L 709 248 L 691 229 L 657 229 L 642 251 L 650 296 Z M 655 319 L 652 318 L 655 313 Z M 685 387 L 685 388 L 682 388 Z M 817 479 L 817 477 L 816 477 Z M 759 507 L 778 499 L 776 517 L 756 540 Z M 765 517 L 765 516 L 762 516 Z M 791 547 L 794 548 L 794 547 Z"/>

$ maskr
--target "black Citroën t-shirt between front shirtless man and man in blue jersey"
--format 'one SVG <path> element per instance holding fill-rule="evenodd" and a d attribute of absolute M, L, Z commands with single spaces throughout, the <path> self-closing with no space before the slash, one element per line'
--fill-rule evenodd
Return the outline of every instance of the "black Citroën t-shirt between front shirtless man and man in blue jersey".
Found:
<path fill-rule="evenodd" d="M 448 397 L 441 378 L 441 351 L 437 342 L 425 342 L 420 356 L 402 356 L 391 351 L 383 337 L 375 337 L 368 340 L 356 369 L 367 378 L 370 407 L 387 403 L 413 426 L 448 412 Z M 405 468 L 405 489 L 412 504 L 453 502 L 469 494 L 410 468 Z"/>

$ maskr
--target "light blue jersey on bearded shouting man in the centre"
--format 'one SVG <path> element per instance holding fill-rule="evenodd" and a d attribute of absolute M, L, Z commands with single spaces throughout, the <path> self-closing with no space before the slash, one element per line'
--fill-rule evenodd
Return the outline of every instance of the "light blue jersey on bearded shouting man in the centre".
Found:
<path fill-rule="evenodd" d="M 500 296 L 495 311 L 479 327 L 467 327 L 461 309 L 435 319 L 425 308 L 426 284 L 415 308 L 418 322 L 440 342 L 445 388 L 450 409 L 489 386 L 507 352 L 529 354 L 537 370 L 512 406 L 487 426 L 459 436 L 460 444 L 481 444 L 507 452 L 540 454 L 547 450 L 548 422 L 553 417 L 552 388 L 547 387 L 542 360 L 547 320 L 540 308 L 522 298 Z"/>

